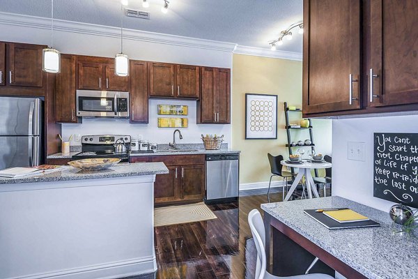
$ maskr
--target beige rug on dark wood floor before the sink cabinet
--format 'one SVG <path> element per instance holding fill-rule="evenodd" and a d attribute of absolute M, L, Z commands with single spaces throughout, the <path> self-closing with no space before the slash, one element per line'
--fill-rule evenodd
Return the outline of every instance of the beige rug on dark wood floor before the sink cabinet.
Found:
<path fill-rule="evenodd" d="M 204 202 L 154 209 L 154 227 L 216 219 Z"/>

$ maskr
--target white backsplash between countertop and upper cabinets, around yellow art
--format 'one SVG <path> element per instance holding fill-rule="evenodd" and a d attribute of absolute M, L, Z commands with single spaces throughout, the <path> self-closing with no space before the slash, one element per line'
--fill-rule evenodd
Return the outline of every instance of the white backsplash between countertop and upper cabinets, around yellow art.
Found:
<path fill-rule="evenodd" d="M 173 131 L 176 128 L 158 128 L 157 127 L 157 105 L 188 105 L 189 125 L 187 128 L 179 128 L 183 135 L 183 140 L 176 135 L 176 143 L 192 143 L 202 144 L 201 135 L 224 135 L 225 142 L 231 142 L 231 125 L 230 124 L 196 124 L 196 101 L 195 100 L 150 100 L 149 107 L 149 123 L 138 124 L 129 123 L 129 119 L 83 119 L 81 124 L 68 124 L 62 126 L 64 138 L 70 135 L 101 135 L 101 134 L 123 134 L 131 135 L 137 139 L 138 135 L 142 135 L 144 140 L 156 144 L 168 144 L 173 142 Z M 169 117 L 162 116 L 160 117 Z M 183 116 L 182 116 L 183 117 Z M 77 141 L 77 137 L 73 136 L 71 145 L 81 145 L 81 141 Z"/>

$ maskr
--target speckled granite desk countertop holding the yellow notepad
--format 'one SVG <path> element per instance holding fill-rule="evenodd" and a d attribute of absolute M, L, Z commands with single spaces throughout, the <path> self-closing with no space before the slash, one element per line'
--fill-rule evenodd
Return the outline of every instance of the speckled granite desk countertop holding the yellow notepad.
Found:
<path fill-rule="evenodd" d="M 332 207 L 353 209 L 381 227 L 330 230 L 304 214 L 304 209 Z M 387 212 L 342 197 L 262 204 L 261 209 L 367 278 L 418 278 L 418 238 L 395 233 Z"/>

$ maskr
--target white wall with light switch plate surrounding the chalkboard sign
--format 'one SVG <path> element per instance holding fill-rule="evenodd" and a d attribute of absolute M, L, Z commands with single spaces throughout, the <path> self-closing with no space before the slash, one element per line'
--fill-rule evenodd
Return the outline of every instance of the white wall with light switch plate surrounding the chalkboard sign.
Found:
<path fill-rule="evenodd" d="M 373 133 L 418 133 L 418 116 L 332 121 L 332 195 L 389 211 L 393 202 L 373 197 Z M 365 143 L 365 161 L 347 159 L 347 142 Z"/>

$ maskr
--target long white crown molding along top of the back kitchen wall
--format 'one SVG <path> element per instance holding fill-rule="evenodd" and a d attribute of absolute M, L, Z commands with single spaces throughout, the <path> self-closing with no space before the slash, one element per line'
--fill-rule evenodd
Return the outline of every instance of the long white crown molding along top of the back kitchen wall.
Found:
<path fill-rule="evenodd" d="M 13 25 L 18 27 L 30 27 L 36 29 L 51 29 L 51 20 L 49 18 L 19 15 L 14 13 L 0 12 L 0 24 Z M 121 28 L 119 27 L 107 27 L 84 22 L 70 22 L 67 20 L 54 20 L 54 31 L 82 33 L 111 38 L 121 37 Z M 189 38 L 184 36 L 154 33 L 134 29 L 123 29 L 123 38 L 127 40 L 140 40 L 148 43 L 160 43 L 164 45 L 178 45 L 206 50 L 217 50 L 220 52 L 233 52 L 236 47 L 235 43 Z"/>

